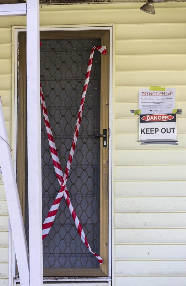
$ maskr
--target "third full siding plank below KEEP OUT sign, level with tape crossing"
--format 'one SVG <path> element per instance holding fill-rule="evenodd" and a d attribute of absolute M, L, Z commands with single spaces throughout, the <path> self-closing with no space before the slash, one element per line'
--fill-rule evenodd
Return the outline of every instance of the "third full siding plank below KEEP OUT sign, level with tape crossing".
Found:
<path fill-rule="evenodd" d="M 117 181 L 115 196 L 186 196 L 186 181 Z"/>

